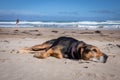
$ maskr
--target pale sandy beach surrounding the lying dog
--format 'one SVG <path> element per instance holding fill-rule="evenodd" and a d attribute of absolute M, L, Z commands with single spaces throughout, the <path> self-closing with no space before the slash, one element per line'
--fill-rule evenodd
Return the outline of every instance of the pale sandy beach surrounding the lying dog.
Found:
<path fill-rule="evenodd" d="M 98 46 L 107 63 L 69 59 L 37 59 L 19 49 L 59 36 Z M 120 30 L 0 28 L 0 80 L 120 80 Z"/>

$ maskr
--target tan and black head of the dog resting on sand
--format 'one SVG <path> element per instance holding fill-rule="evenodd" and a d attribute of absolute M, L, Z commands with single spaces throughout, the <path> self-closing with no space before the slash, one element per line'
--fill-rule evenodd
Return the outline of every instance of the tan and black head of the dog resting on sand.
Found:
<path fill-rule="evenodd" d="M 96 62 L 100 61 L 102 63 L 105 63 L 107 61 L 108 56 L 102 53 L 96 46 L 86 44 L 79 49 L 81 58 L 83 60 L 92 60 Z"/>

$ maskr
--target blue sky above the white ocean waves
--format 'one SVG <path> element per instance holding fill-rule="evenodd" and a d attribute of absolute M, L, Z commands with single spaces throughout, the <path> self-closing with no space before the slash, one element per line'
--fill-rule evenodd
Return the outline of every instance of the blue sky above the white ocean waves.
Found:
<path fill-rule="evenodd" d="M 0 20 L 120 20 L 120 0 L 0 0 Z"/>

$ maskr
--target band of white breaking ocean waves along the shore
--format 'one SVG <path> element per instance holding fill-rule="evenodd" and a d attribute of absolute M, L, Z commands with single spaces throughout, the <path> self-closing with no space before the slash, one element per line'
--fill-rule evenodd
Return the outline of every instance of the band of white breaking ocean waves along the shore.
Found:
<path fill-rule="evenodd" d="M 42 22 L 42 21 L 0 21 L 0 27 L 40 27 L 40 28 L 66 28 L 83 30 L 118 30 L 120 21 L 78 21 L 78 22 Z"/>

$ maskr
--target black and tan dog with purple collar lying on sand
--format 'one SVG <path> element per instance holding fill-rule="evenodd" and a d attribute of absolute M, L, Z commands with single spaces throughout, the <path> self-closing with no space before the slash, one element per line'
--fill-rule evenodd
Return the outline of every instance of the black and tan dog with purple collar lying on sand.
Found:
<path fill-rule="evenodd" d="M 24 48 L 21 51 L 27 53 L 33 52 L 35 53 L 34 57 L 41 59 L 54 56 L 59 59 L 83 59 L 105 63 L 108 58 L 108 56 L 102 53 L 96 46 L 86 44 L 83 41 L 78 41 L 71 37 L 59 37 L 40 45 Z"/>

